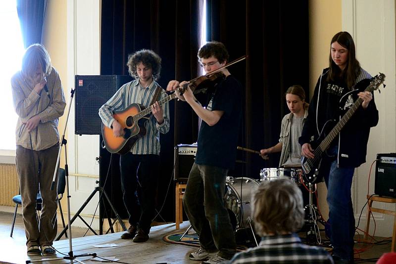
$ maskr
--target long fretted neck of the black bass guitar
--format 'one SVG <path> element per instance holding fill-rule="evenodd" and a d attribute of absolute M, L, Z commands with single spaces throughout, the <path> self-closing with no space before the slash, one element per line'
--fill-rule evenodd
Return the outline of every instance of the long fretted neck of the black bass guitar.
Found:
<path fill-rule="evenodd" d="M 369 91 L 372 92 L 374 90 L 374 87 L 372 84 L 370 84 L 364 91 Z M 340 131 L 344 128 L 344 126 L 347 124 L 349 119 L 353 116 L 353 114 L 356 112 L 356 110 L 359 108 L 359 106 L 362 104 L 363 100 L 359 97 L 357 100 L 353 103 L 353 105 L 349 108 L 347 113 L 340 119 L 340 121 L 337 123 L 336 126 L 330 131 L 330 133 L 323 139 L 323 141 L 319 144 L 318 149 L 323 152 L 325 151 L 331 144 L 331 142 L 336 138 L 336 136 L 340 133 Z M 320 154 L 321 154 L 320 152 Z"/>

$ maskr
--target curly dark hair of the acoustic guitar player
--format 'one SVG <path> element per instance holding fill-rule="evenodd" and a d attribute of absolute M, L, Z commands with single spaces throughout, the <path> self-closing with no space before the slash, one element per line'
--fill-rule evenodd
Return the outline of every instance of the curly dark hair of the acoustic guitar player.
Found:
<path fill-rule="evenodd" d="M 129 74 L 136 79 L 139 78 L 138 73 L 136 72 L 136 67 L 141 62 L 146 67 L 152 69 L 152 78 L 154 80 L 158 80 L 159 74 L 161 73 L 161 58 L 157 53 L 150 49 L 142 49 L 129 54 L 127 62 L 128 71 Z"/>

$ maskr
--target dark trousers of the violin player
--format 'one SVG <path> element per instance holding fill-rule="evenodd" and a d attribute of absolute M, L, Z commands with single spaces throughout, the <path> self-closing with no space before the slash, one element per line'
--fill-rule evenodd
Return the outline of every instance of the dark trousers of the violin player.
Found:
<path fill-rule="evenodd" d="M 207 252 L 219 250 L 218 255 L 231 259 L 236 252 L 234 230 L 224 206 L 225 182 L 228 170 L 193 164 L 183 206 L 199 244 Z"/>

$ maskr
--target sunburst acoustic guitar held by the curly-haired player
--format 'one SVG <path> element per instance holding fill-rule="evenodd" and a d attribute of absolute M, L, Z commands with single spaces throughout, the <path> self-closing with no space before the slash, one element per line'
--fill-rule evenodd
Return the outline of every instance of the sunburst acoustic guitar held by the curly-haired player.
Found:
<path fill-rule="evenodd" d="M 172 93 L 158 101 L 159 106 L 175 99 L 177 96 Z M 114 136 L 113 130 L 102 123 L 102 136 L 104 146 L 111 153 L 128 153 L 135 145 L 136 141 L 146 135 L 145 122 L 150 118 L 151 106 L 145 107 L 141 104 L 133 103 L 124 110 L 114 111 L 113 117 L 124 129 L 123 136 Z"/>

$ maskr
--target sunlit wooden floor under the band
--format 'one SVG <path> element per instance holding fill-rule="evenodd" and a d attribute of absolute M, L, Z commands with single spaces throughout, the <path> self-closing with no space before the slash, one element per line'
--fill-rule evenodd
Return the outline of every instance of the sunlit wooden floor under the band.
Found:
<path fill-rule="evenodd" d="M 22 223 L 22 217 L 17 216 L 13 237 L 9 237 L 12 214 L 0 212 L 0 263 L 70 263 L 69 260 L 41 261 L 44 259 L 62 258 L 63 255 L 58 253 L 56 256 L 50 257 L 28 257 L 26 255 L 26 237 Z M 189 222 L 185 221 L 181 224 L 181 230 L 187 229 Z M 58 231 L 62 230 L 62 226 L 58 226 Z M 74 255 L 85 253 L 96 253 L 97 256 L 116 257 L 122 263 L 136 264 L 198 264 L 199 262 L 191 261 L 188 255 L 196 247 L 170 244 L 162 240 L 164 235 L 176 233 L 175 224 L 165 224 L 153 226 L 150 230 L 150 239 L 145 243 L 133 243 L 131 240 L 120 239 L 121 233 L 113 233 L 101 236 L 90 235 L 82 237 L 87 228 L 79 228 L 72 226 L 72 250 Z M 383 238 L 377 238 L 383 239 Z M 115 243 L 118 247 L 96 248 L 95 245 Z M 55 241 L 54 247 L 61 253 L 67 255 L 69 250 L 69 241 L 64 236 L 62 240 Z M 355 248 L 367 247 L 367 249 L 355 255 L 355 258 L 365 259 L 356 261 L 355 263 L 375 263 L 376 260 L 385 252 L 391 250 L 390 243 L 382 245 L 366 245 L 357 243 Z M 78 258 L 84 263 L 98 263 L 87 258 Z M 76 263 L 76 262 L 75 262 Z"/>

